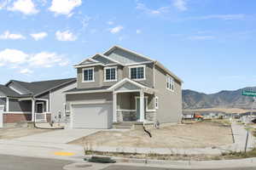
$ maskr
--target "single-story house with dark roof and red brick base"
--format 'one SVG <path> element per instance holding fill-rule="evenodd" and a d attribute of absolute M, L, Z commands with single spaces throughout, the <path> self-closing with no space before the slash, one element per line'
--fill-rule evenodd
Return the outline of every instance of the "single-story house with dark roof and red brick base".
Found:
<path fill-rule="evenodd" d="M 65 111 L 65 94 L 76 87 L 76 78 L 43 82 L 11 80 L 0 85 L 0 115 L 3 123 L 48 121 Z"/>

